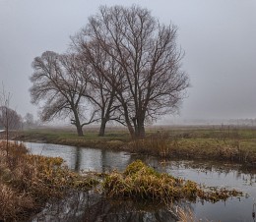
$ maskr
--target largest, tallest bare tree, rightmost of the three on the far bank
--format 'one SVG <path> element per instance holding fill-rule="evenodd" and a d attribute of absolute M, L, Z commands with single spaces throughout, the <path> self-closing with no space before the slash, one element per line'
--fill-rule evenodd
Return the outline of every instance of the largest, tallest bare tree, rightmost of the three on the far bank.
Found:
<path fill-rule="evenodd" d="M 189 85 L 188 76 L 180 70 L 183 53 L 176 45 L 176 30 L 160 25 L 147 9 L 100 7 L 78 38 L 96 41 L 122 71 L 112 83 L 122 118 L 134 138 L 145 136 L 147 120 L 178 109 Z M 111 84 L 112 78 L 105 80 Z"/>

